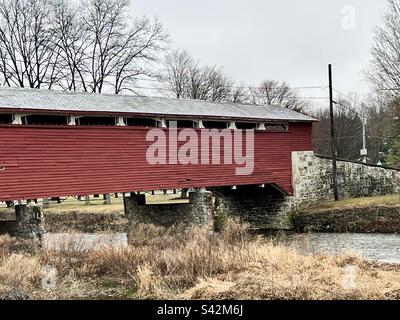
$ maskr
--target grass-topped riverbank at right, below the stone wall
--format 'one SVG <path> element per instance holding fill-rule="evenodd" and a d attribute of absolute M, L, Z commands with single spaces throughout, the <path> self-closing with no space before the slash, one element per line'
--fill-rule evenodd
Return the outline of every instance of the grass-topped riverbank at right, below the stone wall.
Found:
<path fill-rule="evenodd" d="M 293 215 L 300 232 L 399 233 L 400 195 L 346 199 Z"/>

